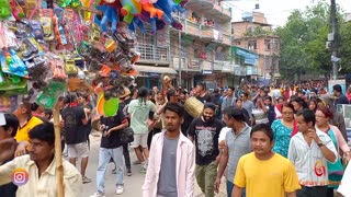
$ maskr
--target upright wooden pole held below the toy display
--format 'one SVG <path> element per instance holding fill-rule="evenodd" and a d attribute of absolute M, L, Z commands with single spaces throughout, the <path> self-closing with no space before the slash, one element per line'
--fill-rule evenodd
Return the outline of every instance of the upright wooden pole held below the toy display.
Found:
<path fill-rule="evenodd" d="M 54 114 L 54 128 L 55 128 L 55 162 L 56 162 L 56 178 L 57 178 L 57 197 L 65 197 L 60 119 L 59 119 L 59 108 L 57 105 L 55 106 L 53 114 Z"/>

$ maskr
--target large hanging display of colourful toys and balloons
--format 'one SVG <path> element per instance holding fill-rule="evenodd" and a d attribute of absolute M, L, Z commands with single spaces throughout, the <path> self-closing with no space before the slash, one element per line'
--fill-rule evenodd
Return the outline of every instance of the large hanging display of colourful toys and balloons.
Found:
<path fill-rule="evenodd" d="M 97 94 L 99 114 L 114 116 L 138 74 L 135 28 L 182 28 L 171 13 L 186 2 L 0 0 L 0 93 L 47 108 L 66 91 Z"/>

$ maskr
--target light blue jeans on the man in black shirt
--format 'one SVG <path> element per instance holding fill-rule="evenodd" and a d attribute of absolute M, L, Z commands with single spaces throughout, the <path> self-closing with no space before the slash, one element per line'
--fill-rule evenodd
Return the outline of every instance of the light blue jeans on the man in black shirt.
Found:
<path fill-rule="evenodd" d="M 123 158 L 123 147 L 115 149 L 100 148 L 99 152 L 99 165 L 97 171 L 97 189 L 99 194 L 105 194 L 105 174 L 109 162 L 113 158 L 116 164 L 116 186 L 123 185 L 124 176 L 124 158 Z"/>

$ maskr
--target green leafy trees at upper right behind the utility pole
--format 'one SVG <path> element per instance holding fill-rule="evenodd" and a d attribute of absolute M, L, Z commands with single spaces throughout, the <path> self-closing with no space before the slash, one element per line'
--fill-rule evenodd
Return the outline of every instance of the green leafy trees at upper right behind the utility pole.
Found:
<path fill-rule="evenodd" d="M 292 79 L 292 73 L 317 70 L 320 74 L 328 74 L 331 70 L 331 53 L 326 49 L 330 32 L 329 1 L 314 2 L 316 4 L 304 11 L 293 11 L 285 26 L 276 28 L 281 39 L 280 72 L 285 79 Z M 347 72 L 351 71 L 351 24 L 340 22 L 339 27 L 339 57 L 342 58 L 342 71 Z"/>

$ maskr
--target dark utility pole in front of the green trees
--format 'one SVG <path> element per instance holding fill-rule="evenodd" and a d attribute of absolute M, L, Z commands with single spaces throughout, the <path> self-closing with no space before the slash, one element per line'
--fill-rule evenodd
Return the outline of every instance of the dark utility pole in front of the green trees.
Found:
<path fill-rule="evenodd" d="M 338 46 L 339 46 L 339 30 L 337 19 L 337 5 L 336 0 L 330 0 L 330 22 L 331 22 L 331 62 L 332 62 L 332 79 L 338 79 L 338 61 L 333 60 L 338 58 Z"/>

